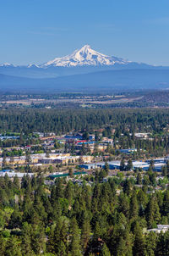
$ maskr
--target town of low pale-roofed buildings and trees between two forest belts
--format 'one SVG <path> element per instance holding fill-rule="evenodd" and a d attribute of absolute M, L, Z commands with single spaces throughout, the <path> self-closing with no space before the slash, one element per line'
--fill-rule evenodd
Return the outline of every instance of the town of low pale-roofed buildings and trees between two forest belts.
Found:
<path fill-rule="evenodd" d="M 144 176 L 144 173 L 152 170 L 157 181 L 160 180 L 160 186 L 156 188 L 162 189 L 163 180 L 167 186 L 167 178 L 164 177 L 167 173 L 169 156 L 146 158 L 145 150 L 139 148 L 138 159 L 138 149 L 122 148 L 120 143 L 115 142 L 114 134 L 115 129 L 111 131 L 110 128 L 95 130 L 93 133 L 70 132 L 62 136 L 57 136 L 55 133 L 34 132 L 29 145 L 26 145 L 28 138 L 23 134 L 2 134 L 0 140 L 3 144 L 7 143 L 8 146 L 11 141 L 17 146 L 2 148 L 0 175 L 8 175 L 11 178 L 17 175 L 22 178 L 24 175 L 41 173 L 47 180 L 65 176 L 72 179 L 76 175 L 95 175 L 95 171 L 107 168 L 108 172 L 104 174 L 102 181 L 107 181 L 108 178 L 119 173 L 126 178 L 133 177 L 136 181 L 138 172 L 142 172 Z M 123 137 L 123 134 L 121 136 Z M 129 136 L 133 135 L 129 134 Z M 134 133 L 134 137 L 138 142 L 153 140 L 150 133 Z M 81 179 L 79 184 L 82 184 Z"/>

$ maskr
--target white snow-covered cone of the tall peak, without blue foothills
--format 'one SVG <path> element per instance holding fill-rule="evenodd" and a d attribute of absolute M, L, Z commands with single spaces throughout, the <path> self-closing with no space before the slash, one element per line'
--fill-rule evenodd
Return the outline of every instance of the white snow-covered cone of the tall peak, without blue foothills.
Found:
<path fill-rule="evenodd" d="M 75 66 L 99 66 L 99 65 L 114 65 L 114 64 L 128 64 L 128 60 L 117 57 L 110 57 L 93 50 L 89 45 L 85 45 L 74 53 L 69 54 L 63 58 L 54 58 L 51 61 L 41 64 L 41 68 L 53 67 L 75 67 Z"/>

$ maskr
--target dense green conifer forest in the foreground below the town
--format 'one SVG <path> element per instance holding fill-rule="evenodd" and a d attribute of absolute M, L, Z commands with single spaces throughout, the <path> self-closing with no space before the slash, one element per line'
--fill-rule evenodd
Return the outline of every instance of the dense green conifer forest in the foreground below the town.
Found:
<path fill-rule="evenodd" d="M 169 190 L 147 193 L 152 172 L 140 188 L 99 177 L 92 186 L 0 177 L 0 255 L 169 255 L 169 231 L 146 232 L 169 223 Z"/>

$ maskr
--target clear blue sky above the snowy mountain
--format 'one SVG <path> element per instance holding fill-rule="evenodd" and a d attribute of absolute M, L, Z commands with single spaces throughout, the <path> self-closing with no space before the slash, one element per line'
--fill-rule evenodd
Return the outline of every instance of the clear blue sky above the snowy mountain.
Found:
<path fill-rule="evenodd" d="M 90 44 L 169 65 L 168 0 L 1 0 L 0 63 L 40 64 Z"/>

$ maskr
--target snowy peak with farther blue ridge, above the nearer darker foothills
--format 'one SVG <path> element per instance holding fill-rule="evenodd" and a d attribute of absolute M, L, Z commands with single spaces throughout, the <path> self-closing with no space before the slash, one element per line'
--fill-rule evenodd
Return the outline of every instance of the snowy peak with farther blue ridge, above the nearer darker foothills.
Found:
<path fill-rule="evenodd" d="M 107 56 L 93 50 L 89 45 L 75 50 L 63 58 L 54 58 L 45 64 L 15 65 L 0 64 L 0 74 L 25 78 L 56 78 L 65 75 L 80 75 L 104 70 L 164 69 L 149 64 L 131 62 L 123 58 Z M 166 67 L 169 70 L 169 67 Z"/>

